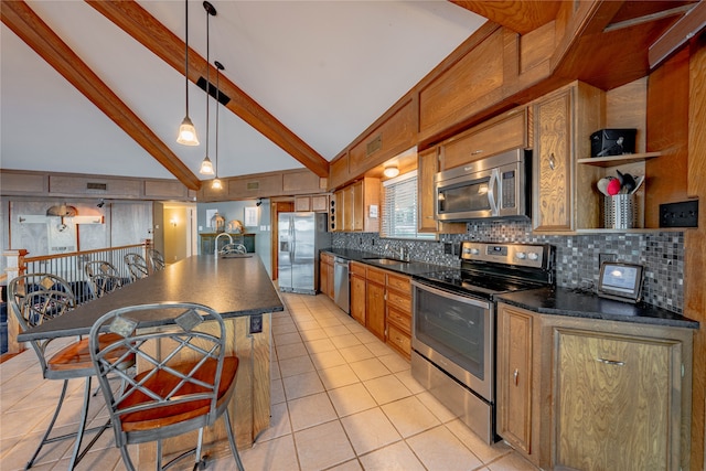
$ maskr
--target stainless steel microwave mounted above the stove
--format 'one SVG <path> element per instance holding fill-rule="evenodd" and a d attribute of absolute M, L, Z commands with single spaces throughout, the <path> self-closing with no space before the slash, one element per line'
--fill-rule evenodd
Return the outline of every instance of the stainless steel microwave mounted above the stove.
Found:
<path fill-rule="evenodd" d="M 439 172 L 434 178 L 439 221 L 531 216 L 532 153 L 515 149 Z"/>

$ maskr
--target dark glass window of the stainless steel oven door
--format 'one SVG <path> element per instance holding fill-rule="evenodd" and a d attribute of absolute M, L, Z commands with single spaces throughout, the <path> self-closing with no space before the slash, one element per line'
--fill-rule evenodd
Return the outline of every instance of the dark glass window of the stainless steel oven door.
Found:
<path fill-rule="evenodd" d="M 489 309 L 416 290 L 415 335 L 431 350 L 484 379 L 485 319 Z"/>

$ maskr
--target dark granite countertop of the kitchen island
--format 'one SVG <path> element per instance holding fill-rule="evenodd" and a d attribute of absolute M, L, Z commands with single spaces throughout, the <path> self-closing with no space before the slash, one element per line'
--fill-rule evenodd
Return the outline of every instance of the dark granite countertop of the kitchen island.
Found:
<path fill-rule="evenodd" d="M 224 319 L 264 314 L 285 308 L 259 257 L 189 257 L 147 278 L 87 302 L 18 335 L 19 342 L 87 335 L 93 323 L 117 308 L 151 302 L 197 302 Z M 160 325 L 150 319 L 150 325 Z"/>

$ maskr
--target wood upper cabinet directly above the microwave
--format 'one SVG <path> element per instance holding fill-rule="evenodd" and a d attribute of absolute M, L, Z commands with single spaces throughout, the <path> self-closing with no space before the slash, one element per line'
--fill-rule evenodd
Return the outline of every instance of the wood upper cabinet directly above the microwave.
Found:
<path fill-rule="evenodd" d="M 527 108 L 520 107 L 454 136 L 440 146 L 440 169 L 527 147 Z"/>

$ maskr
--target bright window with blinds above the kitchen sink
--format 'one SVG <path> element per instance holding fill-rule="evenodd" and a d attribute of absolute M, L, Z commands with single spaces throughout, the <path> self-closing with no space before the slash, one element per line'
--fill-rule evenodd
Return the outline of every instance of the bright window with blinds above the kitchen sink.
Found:
<path fill-rule="evenodd" d="M 383 183 L 382 237 L 435 240 L 436 234 L 417 233 L 417 171 Z"/>

